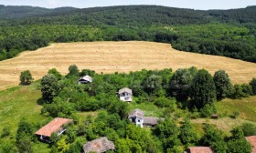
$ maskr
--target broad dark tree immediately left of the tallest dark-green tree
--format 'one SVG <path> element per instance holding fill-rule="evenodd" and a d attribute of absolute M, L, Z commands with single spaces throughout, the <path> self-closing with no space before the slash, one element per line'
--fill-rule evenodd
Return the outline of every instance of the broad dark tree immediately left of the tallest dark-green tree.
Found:
<path fill-rule="evenodd" d="M 187 69 L 177 69 L 170 80 L 171 95 L 177 100 L 187 100 L 189 96 L 188 89 L 193 80 L 193 74 Z"/>

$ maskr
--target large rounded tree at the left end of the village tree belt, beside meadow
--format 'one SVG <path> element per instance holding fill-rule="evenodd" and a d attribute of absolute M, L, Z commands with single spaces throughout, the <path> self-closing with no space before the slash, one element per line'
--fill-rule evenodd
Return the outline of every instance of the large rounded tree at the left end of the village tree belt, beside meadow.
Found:
<path fill-rule="evenodd" d="M 51 103 L 54 97 L 57 97 L 60 91 L 58 78 L 52 74 L 43 76 L 41 80 L 42 97 L 46 103 Z"/>

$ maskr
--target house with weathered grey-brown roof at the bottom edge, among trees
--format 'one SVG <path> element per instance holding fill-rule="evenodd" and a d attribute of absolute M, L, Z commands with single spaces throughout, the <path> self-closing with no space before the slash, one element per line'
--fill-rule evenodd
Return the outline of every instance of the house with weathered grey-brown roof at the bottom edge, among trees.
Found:
<path fill-rule="evenodd" d="M 108 140 L 106 137 L 94 139 L 83 145 L 84 153 L 101 153 L 106 152 L 107 150 L 113 150 L 114 148 L 115 146 L 112 141 Z"/>

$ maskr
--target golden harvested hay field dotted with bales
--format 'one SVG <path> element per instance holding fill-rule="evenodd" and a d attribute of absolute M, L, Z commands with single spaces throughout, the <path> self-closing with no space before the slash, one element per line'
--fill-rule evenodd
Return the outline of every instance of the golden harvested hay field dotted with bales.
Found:
<path fill-rule="evenodd" d="M 35 79 L 39 79 L 53 67 L 65 75 L 73 64 L 79 66 L 80 70 L 90 68 L 98 73 L 166 67 L 176 70 L 197 66 L 213 74 L 218 69 L 225 69 L 233 83 L 248 83 L 252 77 L 256 77 L 256 64 L 223 56 L 181 52 L 169 44 L 138 41 L 60 43 L 1 61 L 0 89 L 17 86 L 21 71 L 28 69 Z"/>

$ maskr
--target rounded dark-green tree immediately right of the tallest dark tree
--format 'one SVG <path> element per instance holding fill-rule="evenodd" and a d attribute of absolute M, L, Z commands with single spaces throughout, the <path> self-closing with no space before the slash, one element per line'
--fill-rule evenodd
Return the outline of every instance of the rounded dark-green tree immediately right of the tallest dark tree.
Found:
<path fill-rule="evenodd" d="M 216 87 L 216 96 L 218 99 L 229 96 L 232 88 L 229 75 L 224 70 L 216 71 L 213 76 L 214 84 Z"/>

